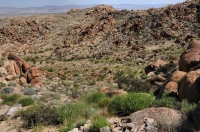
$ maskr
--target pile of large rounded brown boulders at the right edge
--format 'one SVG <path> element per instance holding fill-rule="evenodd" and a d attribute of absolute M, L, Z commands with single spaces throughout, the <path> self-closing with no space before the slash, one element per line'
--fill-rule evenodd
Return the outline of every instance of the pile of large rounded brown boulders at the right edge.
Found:
<path fill-rule="evenodd" d="M 180 100 L 187 99 L 190 102 L 200 101 L 200 41 L 193 41 L 187 50 L 182 53 L 179 60 L 179 71 L 172 73 L 164 79 L 157 98 L 164 91 L 171 91 L 178 95 Z M 155 66 L 146 67 L 145 71 L 154 71 Z M 153 77 L 156 78 L 156 77 Z M 157 77 L 158 78 L 158 77 Z M 149 79 L 153 80 L 152 78 Z"/>

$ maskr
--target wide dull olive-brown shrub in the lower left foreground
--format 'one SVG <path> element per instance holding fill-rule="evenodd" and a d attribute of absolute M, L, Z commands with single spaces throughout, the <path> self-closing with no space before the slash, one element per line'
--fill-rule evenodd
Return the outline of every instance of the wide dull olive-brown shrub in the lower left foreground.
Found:
<path fill-rule="evenodd" d="M 57 108 L 51 105 L 33 105 L 26 110 L 19 111 L 16 115 L 22 118 L 25 128 L 39 125 L 58 125 L 62 123 Z"/>

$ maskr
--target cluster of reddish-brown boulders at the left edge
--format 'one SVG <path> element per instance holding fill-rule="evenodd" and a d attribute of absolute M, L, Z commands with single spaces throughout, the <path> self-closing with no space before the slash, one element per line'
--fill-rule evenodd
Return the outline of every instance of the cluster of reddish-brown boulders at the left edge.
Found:
<path fill-rule="evenodd" d="M 8 53 L 7 57 L 2 58 L 2 61 L 4 64 L 0 67 L 0 72 L 6 81 L 14 80 L 21 84 L 30 83 L 32 86 L 42 86 L 39 79 L 40 72 L 37 67 L 31 67 L 26 61 L 14 53 Z"/>

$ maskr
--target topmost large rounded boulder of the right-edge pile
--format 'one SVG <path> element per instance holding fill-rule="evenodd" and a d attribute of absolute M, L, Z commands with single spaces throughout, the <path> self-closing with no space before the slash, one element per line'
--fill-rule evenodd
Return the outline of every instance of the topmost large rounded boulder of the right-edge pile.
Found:
<path fill-rule="evenodd" d="M 200 64 L 200 41 L 193 41 L 188 49 L 182 53 L 179 60 L 179 70 L 189 72 L 191 68 Z"/>

